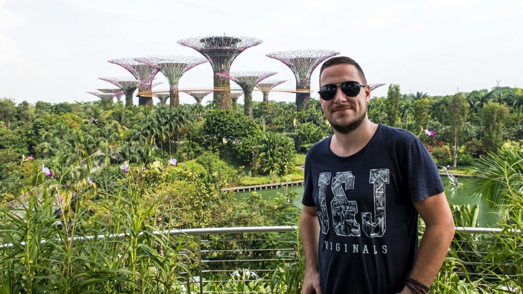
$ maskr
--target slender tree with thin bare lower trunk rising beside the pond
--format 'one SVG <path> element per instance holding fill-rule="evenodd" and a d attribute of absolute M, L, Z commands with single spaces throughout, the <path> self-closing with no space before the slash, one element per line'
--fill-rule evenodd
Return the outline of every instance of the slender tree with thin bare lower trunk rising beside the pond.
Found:
<path fill-rule="evenodd" d="M 467 120 L 467 114 L 469 113 L 469 103 L 467 102 L 467 98 L 463 93 L 458 93 L 450 98 L 448 106 L 449 126 L 454 137 L 453 167 L 455 168 L 458 163 L 459 138 L 463 133 L 465 120 Z"/>

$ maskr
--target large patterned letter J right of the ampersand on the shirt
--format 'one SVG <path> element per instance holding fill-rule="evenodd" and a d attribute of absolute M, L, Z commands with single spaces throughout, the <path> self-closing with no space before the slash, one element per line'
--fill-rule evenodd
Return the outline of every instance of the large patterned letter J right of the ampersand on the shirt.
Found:
<path fill-rule="evenodd" d="M 371 169 L 369 183 L 374 184 L 374 222 L 371 212 L 362 212 L 363 232 L 368 237 L 385 233 L 385 184 L 389 184 L 389 169 Z"/>

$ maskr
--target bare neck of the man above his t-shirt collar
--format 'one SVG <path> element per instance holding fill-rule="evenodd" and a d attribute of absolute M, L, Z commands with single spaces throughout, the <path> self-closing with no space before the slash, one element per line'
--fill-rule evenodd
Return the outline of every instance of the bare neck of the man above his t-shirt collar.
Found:
<path fill-rule="evenodd" d="M 329 147 L 334 154 L 341 157 L 356 154 L 369 143 L 377 129 L 376 123 L 365 119 L 358 128 L 348 134 L 335 130 Z"/>

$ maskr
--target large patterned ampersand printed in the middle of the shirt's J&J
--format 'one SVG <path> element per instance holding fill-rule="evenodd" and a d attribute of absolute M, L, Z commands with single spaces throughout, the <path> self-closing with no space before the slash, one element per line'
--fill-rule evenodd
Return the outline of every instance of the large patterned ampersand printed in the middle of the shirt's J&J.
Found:
<path fill-rule="evenodd" d="M 334 230 L 338 236 L 359 236 L 360 225 L 356 222 L 358 205 L 356 201 L 349 201 L 345 190 L 354 189 L 354 175 L 352 172 L 336 173 L 332 181 L 334 197 L 331 201 Z"/>

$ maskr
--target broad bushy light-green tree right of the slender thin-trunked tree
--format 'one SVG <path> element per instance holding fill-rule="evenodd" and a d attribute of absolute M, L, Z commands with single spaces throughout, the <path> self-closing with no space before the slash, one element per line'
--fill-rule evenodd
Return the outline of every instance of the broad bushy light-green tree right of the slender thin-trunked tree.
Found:
<path fill-rule="evenodd" d="M 508 108 L 489 101 L 483 106 L 482 116 L 485 121 L 485 133 L 481 143 L 486 151 L 496 152 L 503 144 L 503 128 Z"/>

